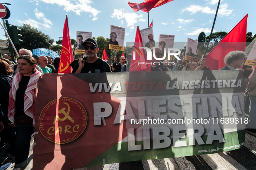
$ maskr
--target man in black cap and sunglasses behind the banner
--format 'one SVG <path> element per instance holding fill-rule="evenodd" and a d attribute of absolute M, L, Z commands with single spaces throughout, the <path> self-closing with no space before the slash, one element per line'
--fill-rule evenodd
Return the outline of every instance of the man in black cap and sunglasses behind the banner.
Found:
<path fill-rule="evenodd" d="M 111 72 L 109 64 L 97 57 L 99 51 L 97 42 L 93 38 L 87 38 L 82 44 L 86 57 L 73 61 L 70 66 L 72 73 L 103 73 Z"/>

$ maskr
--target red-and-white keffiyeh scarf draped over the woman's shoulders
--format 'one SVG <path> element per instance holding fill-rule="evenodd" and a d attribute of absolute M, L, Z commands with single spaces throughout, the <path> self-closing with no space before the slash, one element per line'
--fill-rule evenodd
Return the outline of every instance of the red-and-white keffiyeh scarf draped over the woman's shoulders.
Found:
<path fill-rule="evenodd" d="M 24 94 L 24 112 L 26 115 L 33 119 L 33 126 L 35 126 L 35 99 L 36 99 L 36 83 L 42 75 L 38 70 L 29 78 L 29 83 L 26 87 Z M 18 72 L 11 80 L 11 89 L 9 92 L 9 106 L 8 106 L 8 119 L 14 124 L 14 114 L 16 112 L 15 100 L 16 91 L 19 89 L 19 82 L 23 74 Z"/>

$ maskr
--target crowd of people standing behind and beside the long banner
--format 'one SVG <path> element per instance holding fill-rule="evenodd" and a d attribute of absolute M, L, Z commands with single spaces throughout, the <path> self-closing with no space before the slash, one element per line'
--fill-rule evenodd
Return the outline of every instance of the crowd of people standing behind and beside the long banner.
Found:
<path fill-rule="evenodd" d="M 149 37 L 150 39 L 150 37 Z M 102 73 L 102 72 L 123 72 L 130 70 L 132 55 L 117 57 L 114 62 L 108 64 L 97 57 L 99 51 L 97 42 L 93 38 L 87 38 L 81 44 L 85 55 L 73 61 L 70 66 L 72 73 Z M 152 50 L 156 58 L 163 58 L 163 50 L 155 48 Z M 28 164 L 30 138 L 34 132 L 35 125 L 35 98 L 36 83 L 42 74 L 58 73 L 60 58 L 49 56 L 36 56 L 27 49 L 19 50 L 19 58 L 14 64 L 8 55 L 3 55 L 0 60 L 0 132 L 2 141 L 10 144 L 8 161 L 15 160 L 16 170 Z M 246 53 L 243 51 L 231 51 L 224 58 L 225 67 L 220 70 L 242 70 L 246 73 L 245 83 L 248 87 L 245 91 L 250 94 L 250 121 L 248 130 L 256 132 L 256 73 L 255 67 L 243 66 Z M 205 65 L 205 58 L 198 55 L 192 56 L 192 61 L 185 57 L 172 61 L 159 61 L 152 57 L 151 71 L 197 71 L 209 70 Z M 249 72 L 246 72 L 249 71 Z M 150 72 L 149 72 L 150 74 Z M 248 78 L 249 77 L 249 78 Z M 254 104 L 252 104 L 254 103 Z"/>

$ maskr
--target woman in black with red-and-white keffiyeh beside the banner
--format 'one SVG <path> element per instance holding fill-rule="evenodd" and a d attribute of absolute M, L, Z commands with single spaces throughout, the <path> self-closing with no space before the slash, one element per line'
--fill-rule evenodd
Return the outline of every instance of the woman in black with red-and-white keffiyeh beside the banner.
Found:
<path fill-rule="evenodd" d="M 15 126 L 15 170 L 28 164 L 29 146 L 35 125 L 36 83 L 41 73 L 29 55 L 18 58 L 19 73 L 11 81 L 9 93 L 9 125 Z M 14 170 L 13 169 L 13 170 Z"/>

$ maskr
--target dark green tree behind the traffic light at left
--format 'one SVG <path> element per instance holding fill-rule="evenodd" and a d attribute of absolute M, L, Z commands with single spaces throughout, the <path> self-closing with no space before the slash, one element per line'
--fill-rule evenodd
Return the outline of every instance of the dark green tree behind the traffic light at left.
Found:
<path fill-rule="evenodd" d="M 32 28 L 29 24 L 23 24 L 23 26 L 17 26 L 21 31 L 19 34 L 22 35 L 20 39 L 20 45 L 16 45 L 17 51 L 21 48 L 33 50 L 36 48 L 47 48 L 49 49 L 53 44 L 54 40 L 49 35 L 45 35 L 42 31 Z"/>

